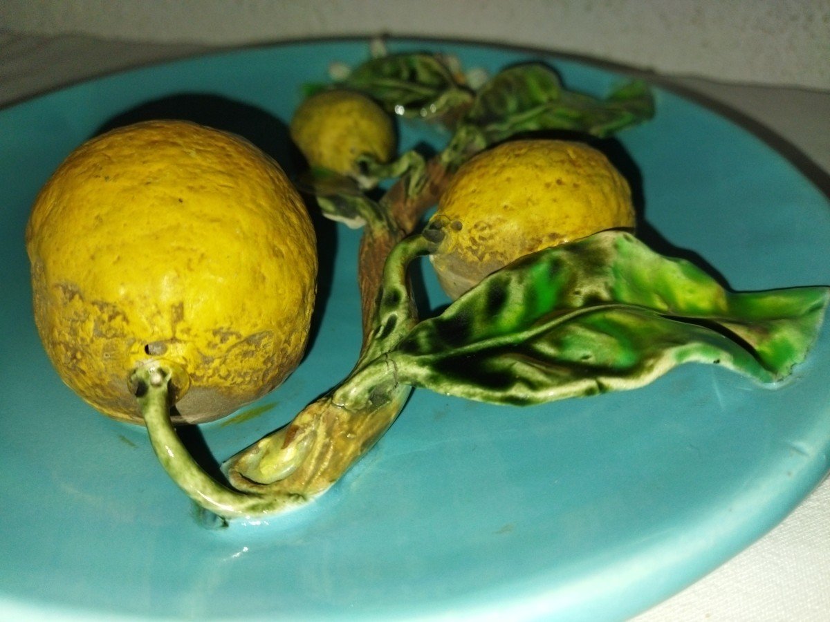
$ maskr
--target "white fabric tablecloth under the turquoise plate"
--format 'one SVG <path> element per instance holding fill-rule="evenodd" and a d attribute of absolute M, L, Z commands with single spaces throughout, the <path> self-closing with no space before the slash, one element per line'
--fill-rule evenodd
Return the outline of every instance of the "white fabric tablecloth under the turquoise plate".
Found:
<path fill-rule="evenodd" d="M 87 77 L 206 50 L 0 32 L 0 106 Z M 671 81 L 738 109 L 830 172 L 830 92 Z M 635 620 L 828 622 L 830 480 L 754 546 Z"/>

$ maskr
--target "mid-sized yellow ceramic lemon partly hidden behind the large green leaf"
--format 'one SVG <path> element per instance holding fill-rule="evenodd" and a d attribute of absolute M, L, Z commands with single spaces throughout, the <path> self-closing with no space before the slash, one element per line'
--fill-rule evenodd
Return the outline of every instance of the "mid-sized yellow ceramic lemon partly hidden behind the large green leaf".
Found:
<path fill-rule="evenodd" d="M 523 255 L 635 224 L 628 183 L 603 153 L 546 139 L 503 143 L 464 163 L 433 218 L 452 223 L 450 245 L 432 255 L 452 298 Z"/>

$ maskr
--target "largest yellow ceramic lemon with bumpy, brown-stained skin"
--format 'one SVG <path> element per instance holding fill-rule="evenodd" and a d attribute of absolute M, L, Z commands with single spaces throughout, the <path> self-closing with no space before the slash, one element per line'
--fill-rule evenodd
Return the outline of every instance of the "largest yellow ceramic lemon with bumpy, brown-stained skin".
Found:
<path fill-rule="evenodd" d="M 181 121 L 93 138 L 46 182 L 26 241 L 51 362 L 116 419 L 142 421 L 136 367 L 175 370 L 173 420 L 198 422 L 271 391 L 305 349 L 314 229 L 242 138 Z"/>

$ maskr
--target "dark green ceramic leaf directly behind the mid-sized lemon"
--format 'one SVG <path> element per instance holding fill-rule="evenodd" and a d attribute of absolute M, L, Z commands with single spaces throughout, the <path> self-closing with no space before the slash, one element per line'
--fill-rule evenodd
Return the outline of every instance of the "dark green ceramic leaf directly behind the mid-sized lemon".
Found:
<path fill-rule="evenodd" d="M 565 129 L 604 137 L 651 119 L 654 103 L 642 82 L 613 91 L 605 100 L 564 90 L 554 70 L 540 63 L 500 71 L 476 93 L 466 123 L 489 143 L 518 132 Z"/>

